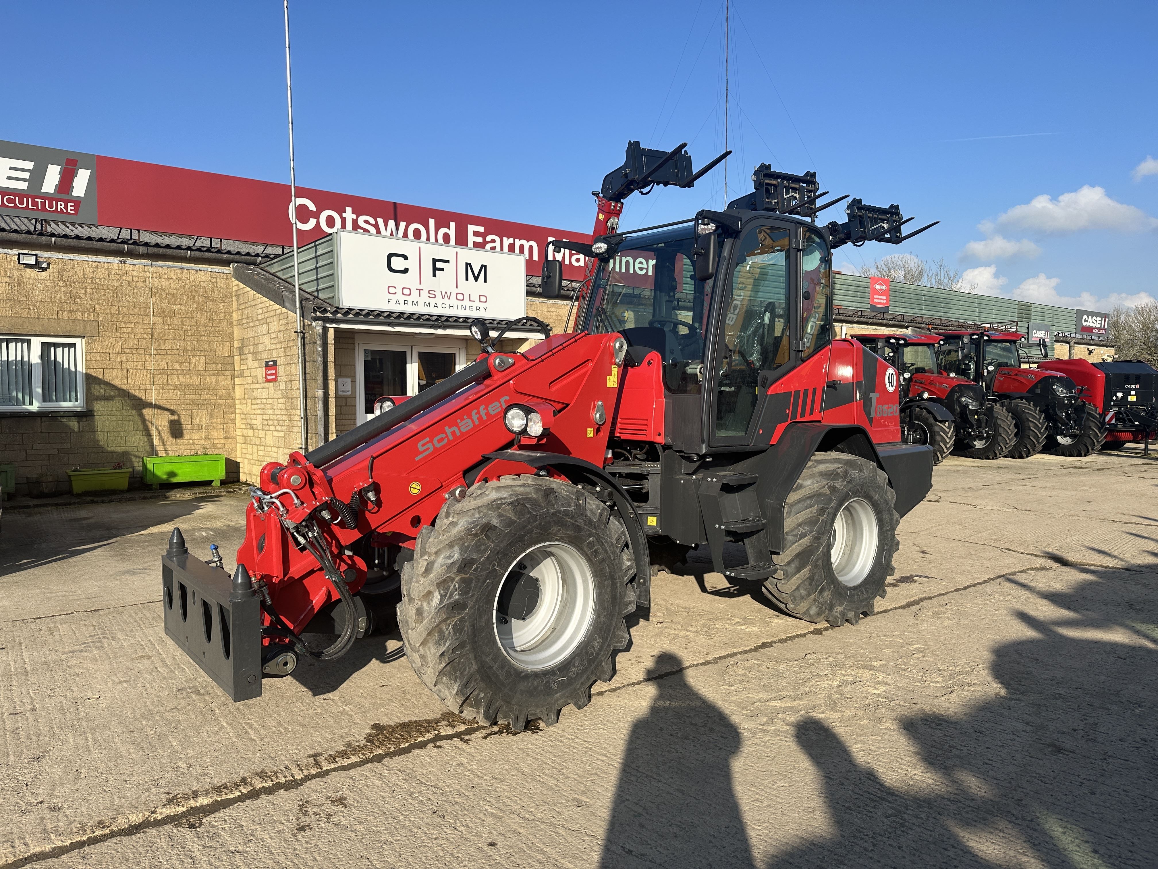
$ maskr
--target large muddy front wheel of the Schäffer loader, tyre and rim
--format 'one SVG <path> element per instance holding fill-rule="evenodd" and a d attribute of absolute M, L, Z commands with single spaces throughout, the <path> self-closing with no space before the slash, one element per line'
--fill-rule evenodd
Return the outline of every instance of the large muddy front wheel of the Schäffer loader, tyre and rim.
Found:
<path fill-rule="evenodd" d="M 449 499 L 402 569 L 398 628 L 453 711 L 521 731 L 610 681 L 636 609 L 618 517 L 577 485 L 508 476 Z"/>

